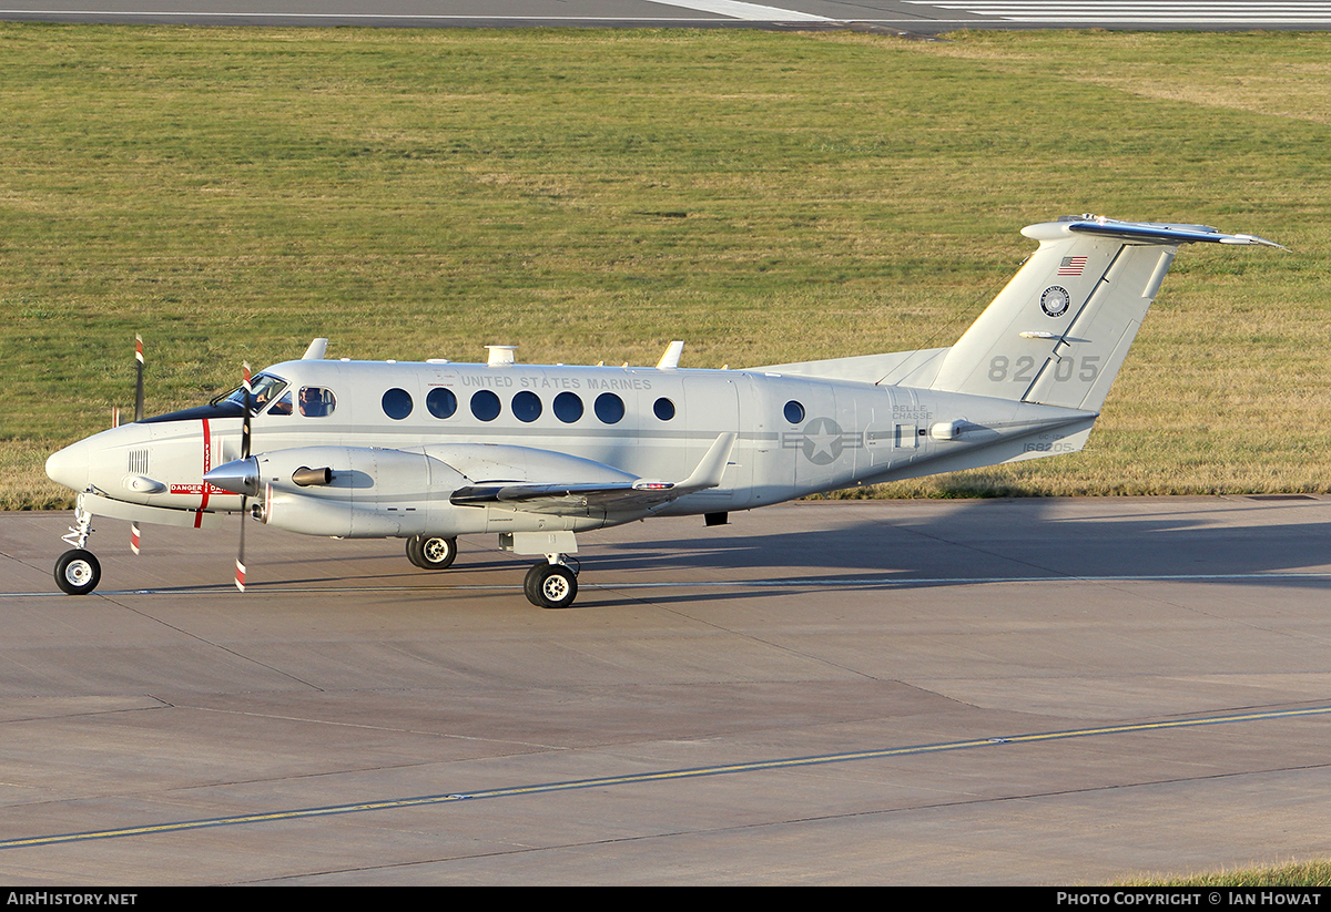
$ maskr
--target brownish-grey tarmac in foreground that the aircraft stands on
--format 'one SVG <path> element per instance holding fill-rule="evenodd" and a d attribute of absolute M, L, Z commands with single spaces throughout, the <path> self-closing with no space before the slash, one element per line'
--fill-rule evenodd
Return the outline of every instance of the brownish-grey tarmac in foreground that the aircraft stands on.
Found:
<path fill-rule="evenodd" d="M 1331 499 L 815 501 L 462 541 L 0 521 L 23 884 L 1074 884 L 1331 855 Z"/>

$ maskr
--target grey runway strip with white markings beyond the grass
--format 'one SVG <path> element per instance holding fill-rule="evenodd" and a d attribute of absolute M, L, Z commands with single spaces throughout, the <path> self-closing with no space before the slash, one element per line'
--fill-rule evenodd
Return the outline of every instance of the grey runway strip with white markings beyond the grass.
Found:
<path fill-rule="evenodd" d="M 0 19 L 413 28 L 1331 28 L 1331 0 L 5 0 Z"/>

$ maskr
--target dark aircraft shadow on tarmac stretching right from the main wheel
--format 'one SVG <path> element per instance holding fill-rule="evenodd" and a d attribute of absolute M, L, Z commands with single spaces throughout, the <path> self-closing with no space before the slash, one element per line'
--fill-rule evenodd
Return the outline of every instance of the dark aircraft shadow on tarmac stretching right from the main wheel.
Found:
<path fill-rule="evenodd" d="M 877 576 L 884 586 L 952 585 L 1032 577 L 1236 577 L 1306 572 L 1308 577 L 1255 580 L 1267 585 L 1324 586 L 1331 566 L 1323 541 L 1331 522 L 1217 524 L 1211 511 L 1113 517 L 1053 516 L 1044 499 L 972 501 L 928 520 L 874 518 L 825 530 L 699 538 L 697 546 L 606 542 L 584 564 L 611 569 L 768 566 L 772 580 L 833 581 Z M 855 505 L 848 505 L 855 511 Z M 881 514 L 880 514 L 881 516 Z M 743 528 L 740 514 L 732 529 Z M 823 572 L 809 576 L 807 572 Z M 837 573 L 828 574 L 828 570 Z M 1312 574 L 1327 573 L 1327 578 Z"/>

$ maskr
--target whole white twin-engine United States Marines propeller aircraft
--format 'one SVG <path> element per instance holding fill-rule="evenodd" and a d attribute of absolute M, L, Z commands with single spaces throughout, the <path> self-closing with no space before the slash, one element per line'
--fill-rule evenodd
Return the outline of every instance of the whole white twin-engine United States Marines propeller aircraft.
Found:
<path fill-rule="evenodd" d="M 146 419 L 140 405 L 133 424 L 51 456 L 47 475 L 79 492 L 56 582 L 96 588 L 93 516 L 133 522 L 137 550 L 138 522 L 250 512 L 303 534 L 406 538 L 411 562 L 437 570 L 459 534 L 496 532 L 543 556 L 527 598 L 566 608 L 578 532 L 697 513 L 719 525 L 816 492 L 1081 449 L 1178 246 L 1279 246 L 1093 215 L 1022 234 L 1040 249 L 950 348 L 701 371 L 679 367 L 681 342 L 638 368 L 526 366 L 511 346 L 490 346 L 486 364 L 325 360 L 315 339 L 208 405 Z"/>

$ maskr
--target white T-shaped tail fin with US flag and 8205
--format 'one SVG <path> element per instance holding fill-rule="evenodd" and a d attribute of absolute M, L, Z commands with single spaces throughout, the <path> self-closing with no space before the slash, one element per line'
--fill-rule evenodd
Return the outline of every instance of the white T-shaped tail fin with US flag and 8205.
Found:
<path fill-rule="evenodd" d="M 952 347 L 933 388 L 1098 412 L 1181 243 L 1263 245 L 1202 225 L 1066 215 Z"/>

